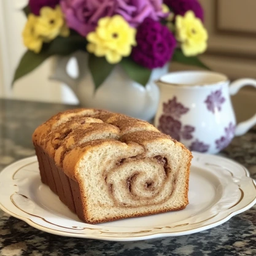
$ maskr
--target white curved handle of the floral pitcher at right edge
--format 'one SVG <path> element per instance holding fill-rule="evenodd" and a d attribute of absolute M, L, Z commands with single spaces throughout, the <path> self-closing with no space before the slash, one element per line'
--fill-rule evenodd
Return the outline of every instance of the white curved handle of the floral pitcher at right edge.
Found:
<path fill-rule="evenodd" d="M 236 80 L 235 82 L 230 84 L 230 95 L 235 95 L 242 87 L 246 85 L 252 85 L 256 88 L 256 80 L 249 78 Z M 238 125 L 236 126 L 235 136 L 241 136 L 254 125 L 256 125 L 256 114 L 248 120 L 238 123 Z"/>

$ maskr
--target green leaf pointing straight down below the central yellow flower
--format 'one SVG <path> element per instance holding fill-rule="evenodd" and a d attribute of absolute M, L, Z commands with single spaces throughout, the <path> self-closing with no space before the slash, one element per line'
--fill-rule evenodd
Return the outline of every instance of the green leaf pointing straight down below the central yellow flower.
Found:
<path fill-rule="evenodd" d="M 97 57 L 94 54 L 89 55 L 88 67 L 93 77 L 95 91 L 101 86 L 104 80 L 106 80 L 107 76 L 111 74 L 114 66 L 115 65 L 108 63 L 104 57 Z"/>

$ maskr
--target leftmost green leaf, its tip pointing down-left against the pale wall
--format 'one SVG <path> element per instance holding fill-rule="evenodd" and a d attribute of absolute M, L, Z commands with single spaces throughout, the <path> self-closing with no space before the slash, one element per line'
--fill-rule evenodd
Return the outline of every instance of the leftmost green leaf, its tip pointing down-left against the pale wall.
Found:
<path fill-rule="evenodd" d="M 21 77 L 25 76 L 29 72 L 36 69 L 40 64 L 42 64 L 50 54 L 42 50 L 40 53 L 34 53 L 28 50 L 21 58 L 17 69 L 15 70 L 14 79 L 12 80 L 12 85 L 14 82 Z"/>

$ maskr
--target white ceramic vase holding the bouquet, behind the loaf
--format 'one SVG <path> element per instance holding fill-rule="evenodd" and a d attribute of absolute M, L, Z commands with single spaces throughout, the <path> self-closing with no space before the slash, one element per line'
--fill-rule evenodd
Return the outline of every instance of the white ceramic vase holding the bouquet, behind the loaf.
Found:
<path fill-rule="evenodd" d="M 79 69 L 79 76 L 76 79 L 69 76 L 66 71 L 72 56 L 76 58 Z M 142 120 L 153 118 L 157 112 L 160 95 L 153 81 L 168 72 L 168 64 L 163 68 L 153 69 L 145 87 L 131 80 L 126 72 L 116 65 L 95 93 L 93 79 L 88 69 L 88 54 L 76 52 L 72 56 L 56 57 L 50 79 L 68 85 L 76 94 L 82 107 L 106 109 Z"/>

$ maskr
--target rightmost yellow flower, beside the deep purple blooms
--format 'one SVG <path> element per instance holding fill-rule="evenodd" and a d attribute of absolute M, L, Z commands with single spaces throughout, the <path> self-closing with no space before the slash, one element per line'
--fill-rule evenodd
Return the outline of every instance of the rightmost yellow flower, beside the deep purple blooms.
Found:
<path fill-rule="evenodd" d="M 176 17 L 176 38 L 181 42 L 182 52 L 185 56 L 203 53 L 207 48 L 208 33 L 201 20 L 188 10 L 184 17 Z"/>

